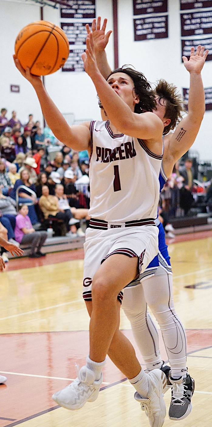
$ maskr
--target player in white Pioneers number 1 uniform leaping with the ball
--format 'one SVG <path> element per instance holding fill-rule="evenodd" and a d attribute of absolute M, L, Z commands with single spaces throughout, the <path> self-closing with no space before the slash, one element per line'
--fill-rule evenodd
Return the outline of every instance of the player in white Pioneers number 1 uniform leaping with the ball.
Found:
<path fill-rule="evenodd" d="M 159 201 L 164 126 L 151 112 L 156 101 L 144 76 L 130 67 L 121 68 L 106 82 L 96 64 L 92 34 L 86 45 L 82 55 L 85 71 L 94 82 L 109 117 L 107 122 L 69 127 L 41 79 L 31 75 L 29 69 L 25 71 L 14 57 L 16 67 L 34 87 L 54 135 L 72 149 L 87 149 L 91 155 L 92 219 L 86 230 L 83 281 L 83 296 L 91 316 L 90 353 L 77 379 L 56 392 L 53 399 L 68 409 L 79 409 L 86 401 L 96 400 L 110 348 L 120 352 L 121 370 L 136 389 L 135 399 L 144 404 L 150 425 L 162 427 L 166 376 L 159 369 L 145 373 L 132 345 L 118 328 L 122 289 L 158 252 L 158 228 L 153 218 Z M 137 114 L 141 109 L 147 112 Z"/>

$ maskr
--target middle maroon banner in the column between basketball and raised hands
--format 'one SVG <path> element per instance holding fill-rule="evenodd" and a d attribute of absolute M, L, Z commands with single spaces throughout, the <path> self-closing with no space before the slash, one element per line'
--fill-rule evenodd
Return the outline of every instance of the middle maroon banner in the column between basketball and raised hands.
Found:
<path fill-rule="evenodd" d="M 91 22 L 88 22 L 89 26 L 91 26 Z M 77 44 L 78 46 L 82 46 L 82 44 L 85 44 L 87 31 L 84 22 L 77 20 L 71 23 L 62 22 L 61 28 L 67 35 L 69 44 Z"/>

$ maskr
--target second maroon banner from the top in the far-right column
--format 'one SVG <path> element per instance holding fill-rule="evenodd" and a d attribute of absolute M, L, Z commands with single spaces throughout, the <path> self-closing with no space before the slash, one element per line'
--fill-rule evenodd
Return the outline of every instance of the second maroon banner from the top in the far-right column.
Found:
<path fill-rule="evenodd" d="M 180 19 L 182 36 L 212 33 L 212 10 L 183 13 Z"/>

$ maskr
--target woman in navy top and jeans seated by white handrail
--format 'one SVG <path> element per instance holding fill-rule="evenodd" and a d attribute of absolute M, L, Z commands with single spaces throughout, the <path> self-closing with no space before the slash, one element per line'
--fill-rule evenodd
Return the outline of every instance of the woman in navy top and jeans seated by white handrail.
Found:
<path fill-rule="evenodd" d="M 15 181 L 15 185 L 10 192 L 10 196 L 14 200 L 16 200 L 16 190 L 20 185 L 24 185 L 25 187 L 28 187 L 30 188 L 30 190 L 35 192 L 35 184 L 32 184 L 32 182 L 29 181 L 29 170 L 22 170 L 20 173 L 20 179 L 17 179 L 17 181 Z M 22 203 L 27 202 L 33 202 L 35 204 L 37 202 L 37 199 L 32 196 L 31 193 L 28 193 L 27 189 L 21 188 L 18 193 L 18 204 L 21 205 Z M 29 205 L 29 218 L 32 224 L 36 224 L 38 222 L 38 216 L 35 212 L 35 205 Z"/>

